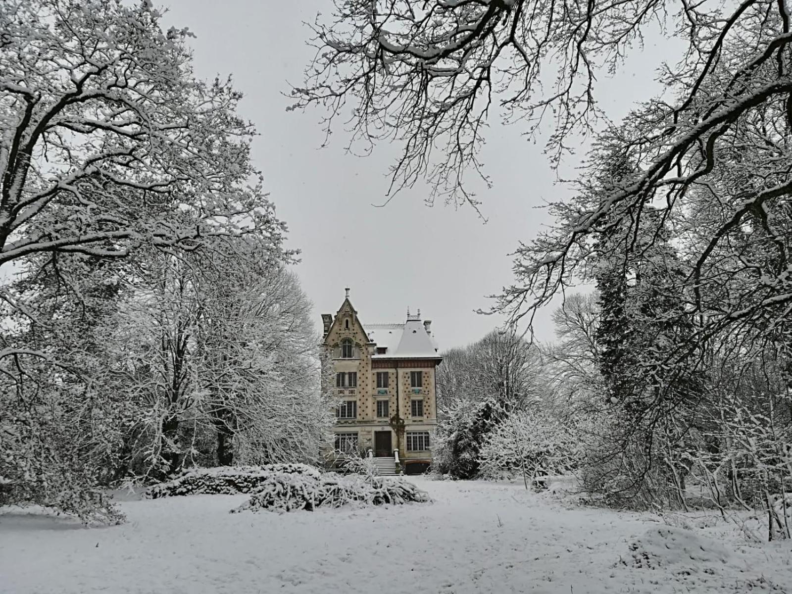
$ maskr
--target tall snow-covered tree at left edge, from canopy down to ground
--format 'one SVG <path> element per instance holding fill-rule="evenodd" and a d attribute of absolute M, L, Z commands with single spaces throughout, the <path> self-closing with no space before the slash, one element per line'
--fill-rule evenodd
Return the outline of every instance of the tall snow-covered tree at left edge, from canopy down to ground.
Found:
<path fill-rule="evenodd" d="M 14 501 L 84 517 L 100 442 L 75 432 L 119 426 L 91 380 L 105 360 L 87 343 L 72 348 L 78 314 L 101 314 L 89 294 L 115 283 L 93 272 L 214 237 L 252 235 L 272 257 L 284 252 L 285 227 L 249 158 L 253 128 L 235 113 L 241 94 L 196 79 L 189 32 L 160 20 L 150 2 L 0 6 L 0 269 L 42 280 L 0 286 L 0 474 Z"/>

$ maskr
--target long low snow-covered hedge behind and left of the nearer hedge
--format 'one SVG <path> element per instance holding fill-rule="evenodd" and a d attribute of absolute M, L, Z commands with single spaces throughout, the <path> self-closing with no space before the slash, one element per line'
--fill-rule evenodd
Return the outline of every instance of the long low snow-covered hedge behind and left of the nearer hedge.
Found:
<path fill-rule="evenodd" d="M 172 481 L 150 486 L 146 497 L 173 497 L 234 493 L 256 493 L 273 474 L 294 474 L 318 480 L 322 473 L 307 464 L 267 464 L 265 466 L 219 466 L 186 470 Z"/>

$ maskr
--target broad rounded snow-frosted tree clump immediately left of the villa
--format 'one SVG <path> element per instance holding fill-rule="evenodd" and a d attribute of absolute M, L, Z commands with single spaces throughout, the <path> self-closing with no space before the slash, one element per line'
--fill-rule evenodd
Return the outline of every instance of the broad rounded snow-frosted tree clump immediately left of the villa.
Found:
<path fill-rule="evenodd" d="M 129 470 L 312 462 L 332 425 L 296 277 L 247 240 L 159 253 L 107 328 L 101 380 L 140 407 Z"/>

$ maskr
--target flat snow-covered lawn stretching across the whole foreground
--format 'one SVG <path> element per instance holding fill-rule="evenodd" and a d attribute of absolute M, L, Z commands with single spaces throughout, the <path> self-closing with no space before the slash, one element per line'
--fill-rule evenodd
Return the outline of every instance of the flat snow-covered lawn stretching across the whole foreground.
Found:
<path fill-rule="evenodd" d="M 229 510 L 246 496 L 124 501 L 128 523 L 0 515 L 0 592 L 792 592 L 792 543 L 727 524 L 565 508 L 521 485 L 415 480 L 432 504 Z"/>

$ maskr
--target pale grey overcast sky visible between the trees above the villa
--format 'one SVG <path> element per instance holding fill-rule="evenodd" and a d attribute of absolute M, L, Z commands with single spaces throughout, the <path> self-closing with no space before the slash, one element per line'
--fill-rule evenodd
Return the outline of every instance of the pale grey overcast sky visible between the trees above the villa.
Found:
<path fill-rule="evenodd" d="M 502 322 L 474 310 L 489 306 L 485 295 L 511 284 L 508 253 L 547 222 L 536 207 L 568 195 L 554 185 L 541 146 L 520 137 L 519 128 L 490 128 L 484 160 L 493 188 L 478 192 L 486 224 L 470 208 L 429 208 L 421 188 L 376 208 L 372 204 L 384 200 L 395 147 L 358 158 L 345 154 L 339 130 L 320 149 L 321 113 L 286 112 L 290 101 L 281 94 L 287 82 L 302 82 L 312 55 L 303 21 L 329 13 L 329 0 L 166 0 L 161 6 L 170 9 L 169 25 L 196 34 L 196 74 L 233 74 L 245 93 L 242 116 L 261 134 L 253 158 L 288 223 L 288 245 L 303 252 L 295 270 L 314 302 L 317 326 L 320 314 L 334 314 L 341 305 L 346 286 L 364 323 L 403 322 L 407 307 L 421 308 L 441 349 L 476 341 Z M 661 46 L 647 44 L 618 78 L 600 81 L 600 104 L 611 116 L 646 97 Z M 583 151 L 577 155 L 582 157 Z M 566 175 L 577 158 L 568 160 Z M 553 338 L 549 311 L 535 326 L 540 340 Z"/>

